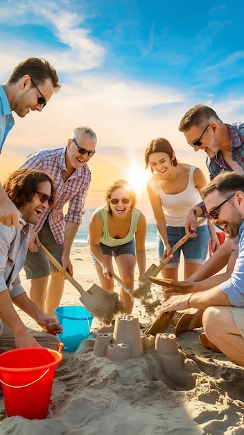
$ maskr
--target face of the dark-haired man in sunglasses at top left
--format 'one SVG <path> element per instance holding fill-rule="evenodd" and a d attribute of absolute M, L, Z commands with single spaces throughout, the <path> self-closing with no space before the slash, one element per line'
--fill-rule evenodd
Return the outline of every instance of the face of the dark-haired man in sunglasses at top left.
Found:
<path fill-rule="evenodd" d="M 42 92 L 42 95 L 37 88 Z M 38 104 L 39 97 L 43 96 L 46 99 L 46 103 L 51 99 L 54 92 L 51 79 L 46 79 L 44 83 L 38 84 L 37 88 L 35 88 L 31 82 L 30 76 L 26 74 L 22 77 L 19 90 L 11 103 L 11 109 L 17 113 L 19 117 L 25 117 L 30 110 L 38 110 L 38 112 L 42 112 L 43 104 Z"/>

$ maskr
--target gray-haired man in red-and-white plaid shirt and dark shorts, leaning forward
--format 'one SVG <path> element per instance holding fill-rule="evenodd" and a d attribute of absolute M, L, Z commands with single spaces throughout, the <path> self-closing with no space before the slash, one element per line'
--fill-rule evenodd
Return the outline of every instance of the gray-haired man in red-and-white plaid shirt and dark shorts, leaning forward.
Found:
<path fill-rule="evenodd" d="M 66 147 L 37 151 L 21 166 L 42 170 L 54 179 L 56 202 L 33 227 L 24 263 L 26 278 L 30 279 L 30 299 L 52 315 L 60 304 L 64 277 L 49 263 L 39 248 L 40 242 L 62 264 L 63 270 L 72 275 L 71 246 L 85 213 L 85 199 L 92 179 L 87 163 L 94 156 L 95 147 L 96 133 L 88 126 L 79 126 L 71 133 Z M 68 211 L 64 215 L 67 202 Z"/>

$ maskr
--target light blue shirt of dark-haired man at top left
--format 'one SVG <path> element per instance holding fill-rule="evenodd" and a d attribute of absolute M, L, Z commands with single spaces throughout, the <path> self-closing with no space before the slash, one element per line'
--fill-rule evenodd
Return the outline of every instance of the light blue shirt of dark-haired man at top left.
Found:
<path fill-rule="evenodd" d="M 3 86 L 0 85 L 0 154 L 3 143 L 6 140 L 6 136 L 14 125 L 15 120 L 12 116 L 12 110 L 10 108 L 8 98 L 3 90 Z"/>

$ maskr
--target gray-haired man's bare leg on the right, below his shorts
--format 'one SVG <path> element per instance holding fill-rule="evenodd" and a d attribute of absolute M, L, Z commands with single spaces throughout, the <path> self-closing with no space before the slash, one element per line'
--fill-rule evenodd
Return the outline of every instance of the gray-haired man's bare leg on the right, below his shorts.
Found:
<path fill-rule="evenodd" d="M 44 312 L 55 315 L 54 309 L 59 306 L 64 291 L 64 277 L 60 272 L 51 272 L 49 285 L 46 290 L 46 301 Z"/>

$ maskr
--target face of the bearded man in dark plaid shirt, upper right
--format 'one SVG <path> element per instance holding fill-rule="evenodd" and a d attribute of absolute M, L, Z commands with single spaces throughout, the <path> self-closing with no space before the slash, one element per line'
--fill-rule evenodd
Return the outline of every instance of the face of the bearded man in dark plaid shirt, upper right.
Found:
<path fill-rule="evenodd" d="M 184 137 L 190 145 L 201 138 L 200 141 L 202 142 L 202 145 L 200 145 L 200 147 L 198 147 L 198 145 L 193 145 L 194 151 L 202 149 L 209 158 L 212 158 L 216 156 L 219 151 L 219 140 L 216 136 L 217 132 L 218 125 L 212 122 L 203 134 L 200 127 L 193 125 L 189 130 L 184 131 Z"/>

